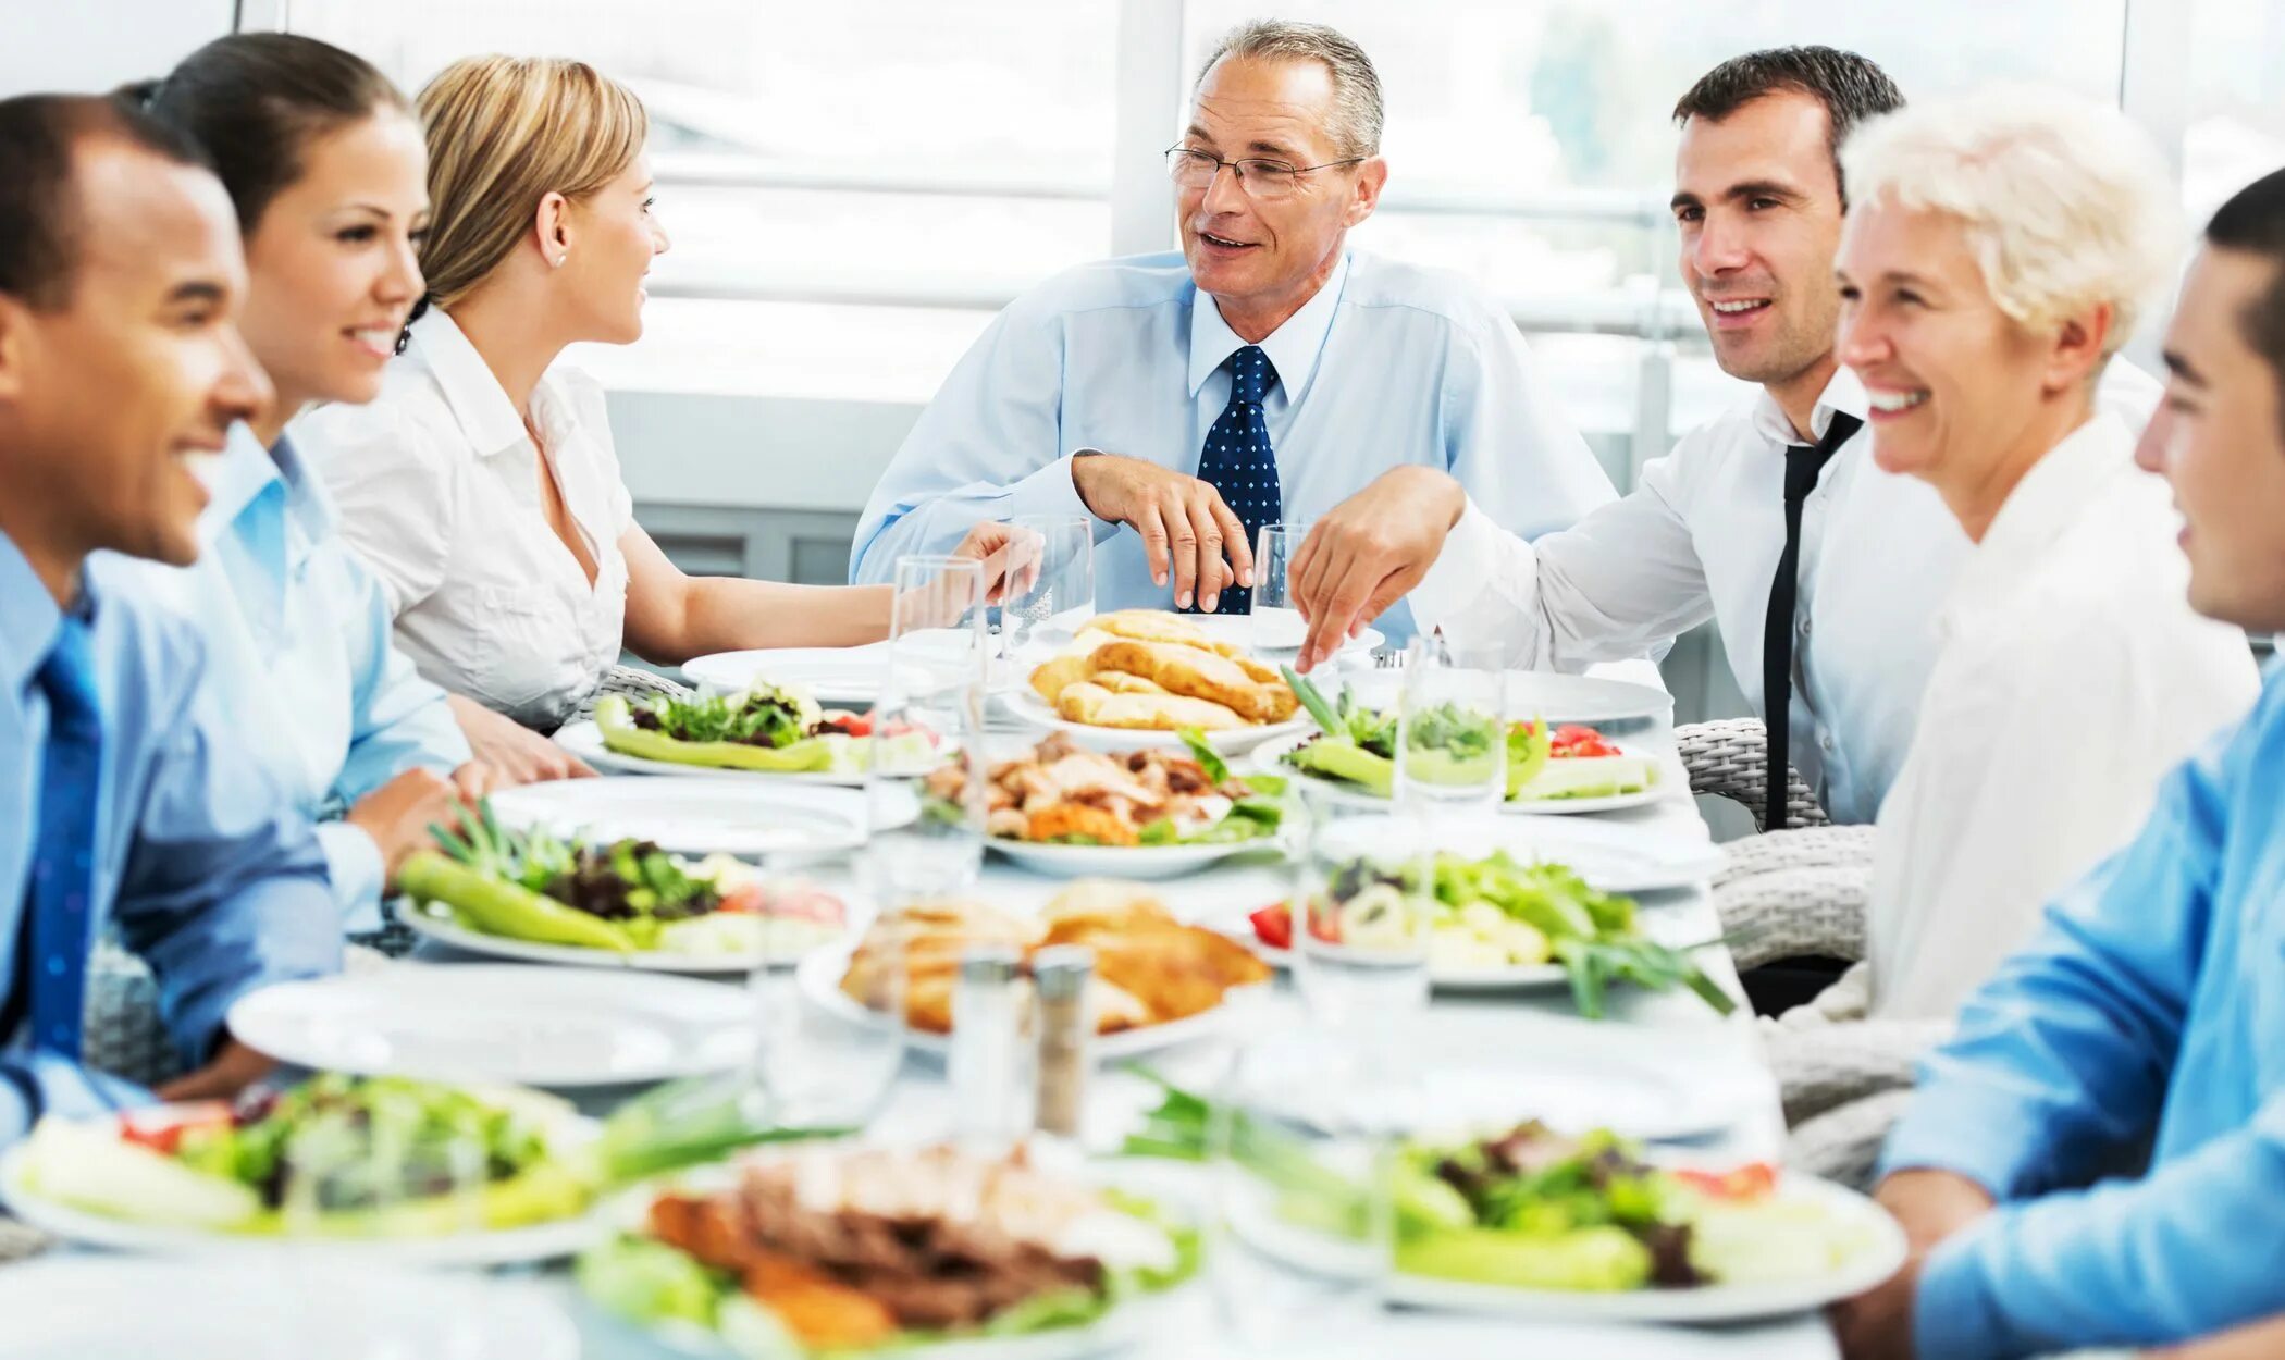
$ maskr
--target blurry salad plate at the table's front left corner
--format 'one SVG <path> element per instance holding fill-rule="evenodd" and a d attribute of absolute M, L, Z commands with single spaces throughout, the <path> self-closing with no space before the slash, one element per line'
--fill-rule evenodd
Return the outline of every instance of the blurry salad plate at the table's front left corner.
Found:
<path fill-rule="evenodd" d="M 320 1072 L 238 1104 L 48 1115 L 0 1157 L 0 1198 L 43 1232 L 114 1250 L 324 1246 L 498 1266 L 610 1232 L 594 1138 L 537 1090 Z"/>

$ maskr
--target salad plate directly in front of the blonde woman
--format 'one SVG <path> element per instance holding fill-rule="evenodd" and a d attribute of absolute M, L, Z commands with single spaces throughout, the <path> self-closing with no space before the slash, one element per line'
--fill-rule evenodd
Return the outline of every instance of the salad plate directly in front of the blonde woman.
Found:
<path fill-rule="evenodd" d="M 756 683 L 736 695 L 670 697 L 631 704 L 606 695 L 592 722 L 574 722 L 555 741 L 599 770 L 622 775 L 772 775 L 804 784 L 864 784 L 875 741 L 900 743 L 921 759 L 944 741 L 916 727 L 875 734 L 873 720 L 820 709 L 795 686 Z"/>

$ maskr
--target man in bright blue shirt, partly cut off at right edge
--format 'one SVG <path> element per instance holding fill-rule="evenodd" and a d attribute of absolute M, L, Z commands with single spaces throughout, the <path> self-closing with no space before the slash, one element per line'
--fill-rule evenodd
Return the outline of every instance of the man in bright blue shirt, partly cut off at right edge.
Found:
<path fill-rule="evenodd" d="M 2189 526 L 2189 601 L 2285 629 L 2285 171 L 2214 215 L 2166 368 L 2139 459 Z M 2180 1342 L 2285 1310 L 2280 770 L 2271 667 L 1961 1013 L 1883 1157 L 1913 1259 L 1839 1310 L 1851 1358 Z M 2146 1145 L 2139 1177 L 2098 1179 Z"/>

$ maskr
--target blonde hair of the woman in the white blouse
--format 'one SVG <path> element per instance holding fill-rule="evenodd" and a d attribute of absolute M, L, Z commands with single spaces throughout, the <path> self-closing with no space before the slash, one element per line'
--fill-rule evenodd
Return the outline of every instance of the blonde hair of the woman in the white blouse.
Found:
<path fill-rule="evenodd" d="M 420 247 L 430 302 L 475 290 L 532 229 L 539 199 L 580 199 L 642 153 L 642 101 L 585 62 L 462 57 L 420 91 L 434 219 Z"/>

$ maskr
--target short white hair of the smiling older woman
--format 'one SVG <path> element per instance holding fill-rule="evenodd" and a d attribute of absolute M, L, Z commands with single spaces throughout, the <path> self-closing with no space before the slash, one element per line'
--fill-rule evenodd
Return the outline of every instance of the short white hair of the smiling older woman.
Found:
<path fill-rule="evenodd" d="M 1947 213 L 1967 231 L 2006 315 L 2050 331 L 2111 304 L 2104 357 L 2173 274 L 2182 226 L 2173 181 L 2125 114 L 2052 89 L 1999 87 L 1908 105 L 1842 146 L 1858 206 Z"/>

